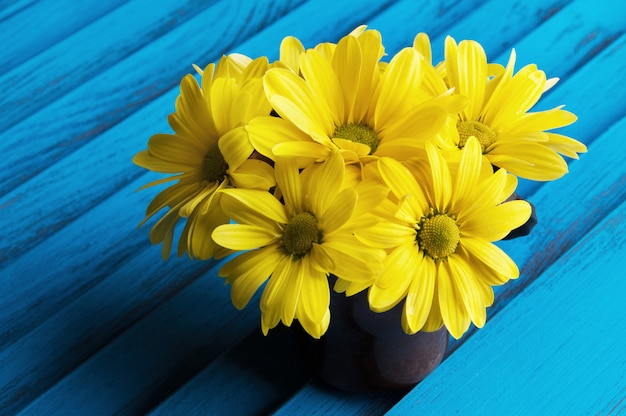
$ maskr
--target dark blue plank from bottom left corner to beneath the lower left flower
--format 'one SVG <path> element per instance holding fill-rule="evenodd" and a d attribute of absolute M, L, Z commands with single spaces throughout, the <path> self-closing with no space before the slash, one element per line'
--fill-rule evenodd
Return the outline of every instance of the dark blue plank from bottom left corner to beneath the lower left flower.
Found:
<path fill-rule="evenodd" d="M 20 414 L 145 414 L 257 325 L 258 313 L 246 312 L 233 313 L 229 288 L 209 273 L 120 334 Z"/>

